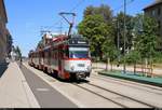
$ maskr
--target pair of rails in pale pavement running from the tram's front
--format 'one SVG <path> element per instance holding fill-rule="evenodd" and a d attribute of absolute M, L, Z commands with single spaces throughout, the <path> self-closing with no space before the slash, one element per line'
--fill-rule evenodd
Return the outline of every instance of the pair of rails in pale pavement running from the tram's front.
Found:
<path fill-rule="evenodd" d="M 95 85 L 95 84 L 93 84 L 93 83 L 86 83 L 86 84 L 84 84 L 84 86 L 82 86 L 81 84 L 73 84 L 73 85 L 76 85 L 76 86 L 78 86 L 78 87 L 80 87 L 80 88 L 83 88 L 84 91 L 87 91 L 87 92 L 90 92 L 90 93 L 92 93 L 92 94 L 95 94 L 95 95 L 97 95 L 97 96 L 99 96 L 99 97 L 102 97 L 102 98 L 104 98 L 104 99 L 107 99 L 107 100 L 109 100 L 109 101 L 112 101 L 113 104 L 116 104 L 116 105 L 118 105 L 118 106 L 120 106 L 120 107 L 122 107 L 122 108 L 132 108 L 132 107 L 130 107 L 130 104 L 129 104 L 129 102 L 133 102 L 133 104 L 135 104 L 135 105 L 138 105 L 139 107 L 154 108 L 153 105 L 150 105 L 150 104 L 144 102 L 144 101 L 141 101 L 141 100 L 138 100 L 138 99 L 135 99 L 135 98 L 132 98 L 132 97 L 122 95 L 122 94 L 120 94 L 120 93 L 117 93 L 117 92 L 113 92 L 113 91 L 104 88 L 104 87 L 98 86 L 98 85 Z M 89 86 L 89 87 L 85 87 L 85 85 Z M 90 86 L 95 87 L 95 90 L 91 90 Z M 96 88 L 97 88 L 97 90 L 96 90 Z M 98 90 L 99 90 L 99 91 L 98 91 Z M 116 96 L 116 97 L 118 97 L 118 98 L 120 98 L 120 99 L 124 99 L 124 100 L 126 100 L 126 101 L 129 101 L 129 102 L 125 104 L 125 102 L 122 102 L 121 100 L 118 100 L 118 99 L 116 99 L 116 98 L 111 98 L 111 97 L 108 97 L 108 96 L 106 96 L 106 95 L 103 95 L 103 94 L 102 94 L 103 92 L 106 92 L 107 94 L 112 94 L 113 97 Z M 136 107 L 137 107 L 137 106 L 136 106 Z"/>

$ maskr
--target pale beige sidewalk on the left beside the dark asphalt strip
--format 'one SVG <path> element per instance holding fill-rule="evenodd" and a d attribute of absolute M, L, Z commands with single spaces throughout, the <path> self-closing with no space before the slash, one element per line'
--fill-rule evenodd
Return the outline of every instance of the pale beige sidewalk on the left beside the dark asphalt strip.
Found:
<path fill-rule="evenodd" d="M 16 63 L 0 78 L 0 108 L 40 108 Z"/>

